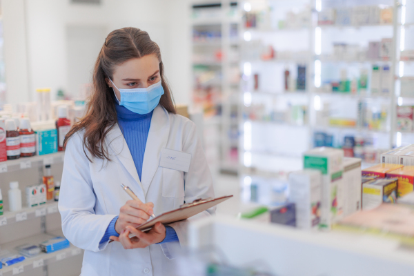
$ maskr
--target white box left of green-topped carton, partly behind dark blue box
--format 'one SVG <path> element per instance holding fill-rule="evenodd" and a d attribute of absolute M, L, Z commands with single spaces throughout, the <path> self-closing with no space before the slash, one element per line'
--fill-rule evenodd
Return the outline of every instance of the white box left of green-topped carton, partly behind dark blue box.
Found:
<path fill-rule="evenodd" d="M 318 228 L 321 221 L 322 175 L 320 170 L 299 170 L 289 174 L 289 201 L 296 207 L 296 226 Z"/>

